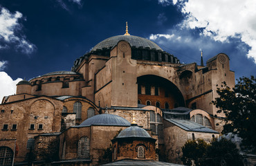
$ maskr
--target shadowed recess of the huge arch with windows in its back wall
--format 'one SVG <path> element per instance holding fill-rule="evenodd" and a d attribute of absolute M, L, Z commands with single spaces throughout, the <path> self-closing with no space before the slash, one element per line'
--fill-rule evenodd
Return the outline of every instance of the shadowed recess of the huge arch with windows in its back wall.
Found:
<path fill-rule="evenodd" d="M 146 104 L 146 101 L 152 103 L 160 102 L 161 108 L 165 108 L 165 103 L 168 103 L 170 109 L 175 107 L 185 107 L 185 100 L 179 88 L 170 80 L 157 75 L 142 75 L 137 77 L 138 100 L 141 104 Z"/>

